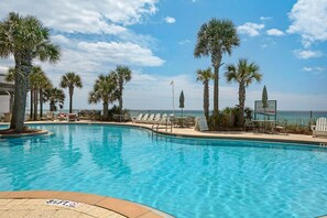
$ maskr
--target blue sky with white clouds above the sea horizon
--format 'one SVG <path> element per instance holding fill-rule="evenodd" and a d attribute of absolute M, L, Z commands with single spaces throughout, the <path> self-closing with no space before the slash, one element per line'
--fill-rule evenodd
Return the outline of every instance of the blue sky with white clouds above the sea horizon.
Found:
<path fill-rule="evenodd" d="M 174 80 L 175 109 L 183 90 L 184 109 L 201 110 L 196 70 L 211 63 L 195 58 L 194 48 L 201 24 L 216 18 L 231 20 L 240 37 L 240 46 L 222 57 L 219 109 L 238 105 L 238 84 L 226 81 L 225 66 L 248 58 L 263 78 L 247 88 L 246 106 L 253 108 L 265 85 L 277 110 L 327 110 L 327 0 L 1 0 L 0 19 L 11 11 L 35 15 L 51 29 L 61 61 L 33 64 L 55 86 L 67 72 L 81 76 L 76 109 L 101 109 L 87 102 L 96 78 L 127 65 L 132 79 L 124 86 L 124 108 L 172 109 Z M 0 59 L 0 73 L 13 65 L 13 57 Z"/>

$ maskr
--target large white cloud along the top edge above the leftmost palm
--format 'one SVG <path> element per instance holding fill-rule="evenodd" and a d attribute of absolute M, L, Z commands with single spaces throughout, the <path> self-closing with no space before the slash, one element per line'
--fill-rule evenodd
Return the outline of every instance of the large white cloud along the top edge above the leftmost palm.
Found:
<path fill-rule="evenodd" d="M 63 32 L 119 34 L 127 31 L 126 25 L 142 22 L 154 14 L 157 0 L 43 0 L 31 3 L 30 0 L 0 2 L 0 14 L 19 11 L 21 14 L 34 14 L 46 26 Z M 1 18 L 1 19 L 2 19 Z"/>

